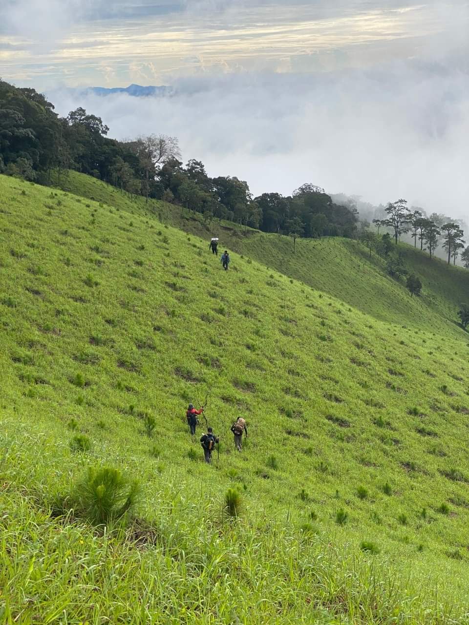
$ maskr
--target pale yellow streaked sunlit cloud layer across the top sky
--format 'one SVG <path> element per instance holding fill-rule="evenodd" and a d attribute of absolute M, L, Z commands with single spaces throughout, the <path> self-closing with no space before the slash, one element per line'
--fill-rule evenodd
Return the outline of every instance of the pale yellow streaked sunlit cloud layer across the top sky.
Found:
<path fill-rule="evenodd" d="M 138 8 L 130 3 L 130 16 L 123 19 L 123 4 L 109 12 L 102 2 L 66 0 L 61 17 L 50 26 L 44 23 L 44 3 L 59 11 L 59 0 L 31 0 L 30 14 L 24 12 L 24 1 L 11 9 L 9 22 L 16 24 L 16 31 L 20 21 L 24 28 L 9 37 L 9 44 L 21 37 L 24 46 L 26 38 L 26 53 L 3 51 L 0 74 L 14 79 L 29 64 L 43 64 L 53 69 L 49 75 L 56 81 L 81 85 L 91 84 L 103 67 L 113 67 L 112 80 L 123 84 L 136 74 L 131 68 L 142 63 L 148 64 L 144 76 L 171 81 L 210 68 L 299 71 L 300 65 L 301 71 L 317 71 L 377 63 L 390 56 L 407 58 L 416 54 L 421 41 L 445 32 L 450 16 L 424 4 L 373 8 L 369 2 L 351 2 L 332 10 L 324 2 L 214 0 L 187 2 L 185 7 L 179 2 L 143 2 Z M 67 18 L 68 11 L 76 12 L 76 20 Z M 103 19 L 106 11 L 109 18 Z M 366 58 L 360 47 L 372 49 L 372 54 Z"/>

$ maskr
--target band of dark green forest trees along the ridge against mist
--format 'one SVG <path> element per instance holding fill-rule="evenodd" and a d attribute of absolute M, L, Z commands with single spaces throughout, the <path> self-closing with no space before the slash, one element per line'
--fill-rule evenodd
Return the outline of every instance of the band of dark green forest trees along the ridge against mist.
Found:
<path fill-rule="evenodd" d="M 420 249 L 430 256 L 443 241 L 448 262 L 456 263 L 461 256 L 469 269 L 461 222 L 437 214 L 427 217 L 423 209 L 408 208 L 403 199 L 371 207 L 373 212 L 370 205 L 346 196 L 331 197 L 314 184 L 303 184 L 288 197 L 280 193 L 253 197 L 248 183 L 236 176 L 210 178 L 195 159 L 184 165 L 176 138 L 149 134 L 117 141 L 108 138 L 108 132 L 101 118 L 83 108 L 61 118 L 43 94 L 0 80 L 0 173 L 49 184 L 54 171 L 60 184 L 63 172 L 75 169 L 132 196 L 164 199 L 208 220 L 228 219 L 293 239 L 360 236 L 370 254 L 372 247 L 383 247 L 382 228 L 395 242 L 410 234 L 415 246 L 420 242 Z M 375 229 L 366 221 L 372 212 Z"/>

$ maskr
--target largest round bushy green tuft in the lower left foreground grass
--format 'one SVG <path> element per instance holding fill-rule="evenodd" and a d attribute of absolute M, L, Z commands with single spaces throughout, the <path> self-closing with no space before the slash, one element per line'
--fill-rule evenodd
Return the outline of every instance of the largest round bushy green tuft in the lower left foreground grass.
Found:
<path fill-rule="evenodd" d="M 136 479 L 110 466 L 89 467 L 74 491 L 78 511 L 98 525 L 131 512 L 140 495 Z"/>

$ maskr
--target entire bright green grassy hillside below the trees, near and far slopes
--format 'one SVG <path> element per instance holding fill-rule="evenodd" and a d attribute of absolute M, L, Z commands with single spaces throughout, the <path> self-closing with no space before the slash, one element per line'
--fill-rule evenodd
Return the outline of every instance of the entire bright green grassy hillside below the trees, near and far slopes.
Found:
<path fill-rule="evenodd" d="M 303 241 L 301 284 L 265 267 L 290 241 L 235 229 L 224 272 L 94 197 L 0 176 L 3 621 L 466 622 L 469 345 L 442 303 L 466 274 L 422 260 L 411 299 L 353 242 Z M 206 396 L 211 466 L 184 423 Z M 66 513 L 100 464 L 141 482 L 128 529 Z"/>

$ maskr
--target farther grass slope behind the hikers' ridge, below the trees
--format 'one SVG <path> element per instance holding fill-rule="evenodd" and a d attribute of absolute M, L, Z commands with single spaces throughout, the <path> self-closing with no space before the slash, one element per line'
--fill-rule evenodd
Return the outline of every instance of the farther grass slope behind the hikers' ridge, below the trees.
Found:
<path fill-rule="evenodd" d="M 130 199 L 115 187 L 74 171 L 68 172 L 62 183 L 64 189 L 74 194 L 119 210 L 156 214 L 166 224 L 205 238 L 207 246 L 211 236 L 219 236 L 220 246 L 246 254 L 382 321 L 452 331 L 458 306 L 469 291 L 466 269 L 430 259 L 425 252 L 406 244 L 398 246 L 399 252 L 423 282 L 423 296 L 417 302 L 410 298 L 402 282 L 386 275 L 385 262 L 374 252 L 370 259 L 365 246 L 356 241 L 300 239 L 293 254 L 293 241 L 287 236 L 265 234 L 228 221 L 208 223 L 201 215 L 172 204 L 154 200 L 146 204 L 142 197 Z"/>

